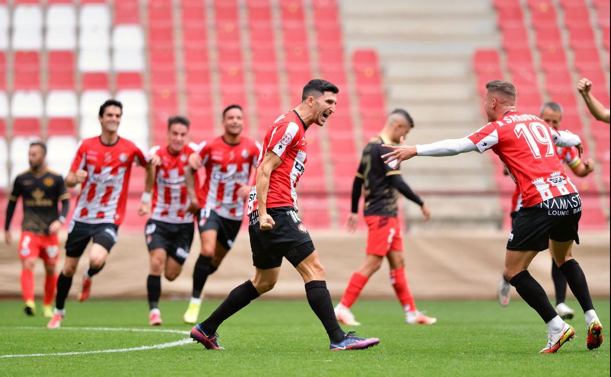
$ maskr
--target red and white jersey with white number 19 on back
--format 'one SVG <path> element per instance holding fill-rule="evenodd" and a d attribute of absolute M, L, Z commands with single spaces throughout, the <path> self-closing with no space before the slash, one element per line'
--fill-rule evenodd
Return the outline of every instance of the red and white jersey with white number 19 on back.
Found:
<path fill-rule="evenodd" d="M 499 155 L 524 207 L 577 192 L 555 152 L 557 131 L 535 115 L 508 111 L 468 137 L 480 153 L 492 149 Z"/>

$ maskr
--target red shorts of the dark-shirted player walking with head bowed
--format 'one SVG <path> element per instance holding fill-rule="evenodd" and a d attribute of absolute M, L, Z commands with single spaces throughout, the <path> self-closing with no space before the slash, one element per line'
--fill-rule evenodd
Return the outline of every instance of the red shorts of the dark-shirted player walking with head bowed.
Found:
<path fill-rule="evenodd" d="M 386 257 L 389 251 L 403 251 L 399 219 L 389 216 L 365 216 L 369 228 L 367 254 Z"/>

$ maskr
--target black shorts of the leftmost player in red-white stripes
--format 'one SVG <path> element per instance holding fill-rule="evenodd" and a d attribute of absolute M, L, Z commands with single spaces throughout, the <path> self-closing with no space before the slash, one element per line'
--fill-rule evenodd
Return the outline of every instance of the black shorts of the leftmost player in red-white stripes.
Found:
<path fill-rule="evenodd" d="M 81 257 L 87 248 L 89 240 L 97 243 L 110 252 L 117 243 L 119 225 L 103 222 L 102 224 L 87 224 L 80 221 L 71 221 L 66 240 L 66 255 L 68 257 Z"/>

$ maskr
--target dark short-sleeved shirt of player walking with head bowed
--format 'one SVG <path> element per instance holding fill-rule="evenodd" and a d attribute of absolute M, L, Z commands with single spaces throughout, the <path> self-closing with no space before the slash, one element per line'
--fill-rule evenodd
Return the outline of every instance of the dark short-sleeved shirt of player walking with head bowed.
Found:
<path fill-rule="evenodd" d="M 374 136 L 363 149 L 356 176 L 363 179 L 365 190 L 365 216 L 397 217 L 398 192 L 390 182 L 391 175 L 401 174 L 396 164 L 385 164 L 382 155 L 392 152 L 382 144 L 391 145 L 389 140 Z"/>

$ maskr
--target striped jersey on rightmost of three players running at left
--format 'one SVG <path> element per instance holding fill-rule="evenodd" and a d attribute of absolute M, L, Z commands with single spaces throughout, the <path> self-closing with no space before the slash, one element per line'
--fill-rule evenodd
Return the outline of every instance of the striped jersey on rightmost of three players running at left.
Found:
<path fill-rule="evenodd" d="M 238 197 L 238 189 L 248 184 L 251 168 L 257 166 L 260 144 L 244 136 L 238 144 L 229 144 L 219 136 L 199 148 L 206 168 L 203 187 L 196 190 L 199 207 L 211 208 L 225 219 L 241 220 L 244 200 Z"/>

